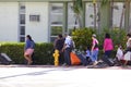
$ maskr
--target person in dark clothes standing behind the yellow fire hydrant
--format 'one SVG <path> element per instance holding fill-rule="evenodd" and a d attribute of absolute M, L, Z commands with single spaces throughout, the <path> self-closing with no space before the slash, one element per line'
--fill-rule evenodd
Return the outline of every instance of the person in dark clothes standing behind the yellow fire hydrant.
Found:
<path fill-rule="evenodd" d="M 58 38 L 56 39 L 55 41 L 55 50 L 59 50 L 59 63 L 60 64 L 63 64 L 63 51 L 62 51 L 62 48 L 63 48 L 63 44 L 64 44 L 64 39 L 62 37 L 62 35 L 58 35 Z"/>

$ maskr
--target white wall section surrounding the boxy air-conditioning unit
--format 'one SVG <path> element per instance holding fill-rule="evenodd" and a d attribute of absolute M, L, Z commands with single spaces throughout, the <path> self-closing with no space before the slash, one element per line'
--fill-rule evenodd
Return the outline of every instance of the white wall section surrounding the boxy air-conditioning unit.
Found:
<path fill-rule="evenodd" d="M 26 2 L 26 35 L 37 42 L 48 41 L 48 2 Z M 40 15 L 40 22 L 29 22 L 29 15 Z"/>

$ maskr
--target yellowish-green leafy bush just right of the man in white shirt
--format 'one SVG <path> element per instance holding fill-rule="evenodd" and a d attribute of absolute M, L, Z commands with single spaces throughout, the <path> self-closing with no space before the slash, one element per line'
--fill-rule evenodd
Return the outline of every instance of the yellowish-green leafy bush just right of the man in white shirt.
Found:
<path fill-rule="evenodd" d="M 92 28 L 80 28 L 72 32 L 72 37 L 75 42 L 76 49 L 83 50 L 87 46 L 91 47 L 92 35 L 95 33 Z"/>

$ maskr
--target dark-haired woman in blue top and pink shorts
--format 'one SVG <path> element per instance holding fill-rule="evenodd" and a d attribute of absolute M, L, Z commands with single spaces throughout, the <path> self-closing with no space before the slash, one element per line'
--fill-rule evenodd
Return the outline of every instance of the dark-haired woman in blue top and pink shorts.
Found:
<path fill-rule="evenodd" d="M 33 63 L 32 55 L 34 53 L 35 42 L 29 35 L 26 36 L 26 42 L 24 47 L 24 58 L 27 60 L 27 64 Z"/>

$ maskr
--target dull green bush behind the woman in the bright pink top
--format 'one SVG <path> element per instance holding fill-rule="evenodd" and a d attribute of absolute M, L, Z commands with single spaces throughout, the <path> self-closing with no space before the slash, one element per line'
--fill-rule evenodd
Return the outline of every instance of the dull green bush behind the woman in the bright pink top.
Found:
<path fill-rule="evenodd" d="M 118 45 L 121 45 L 123 48 L 126 48 L 127 32 L 124 29 L 114 28 L 114 29 L 104 29 L 100 34 L 97 34 L 99 46 L 102 47 L 100 49 L 103 49 L 103 42 L 106 33 L 110 34 L 110 38 L 114 41 L 115 50 L 117 50 Z"/>

